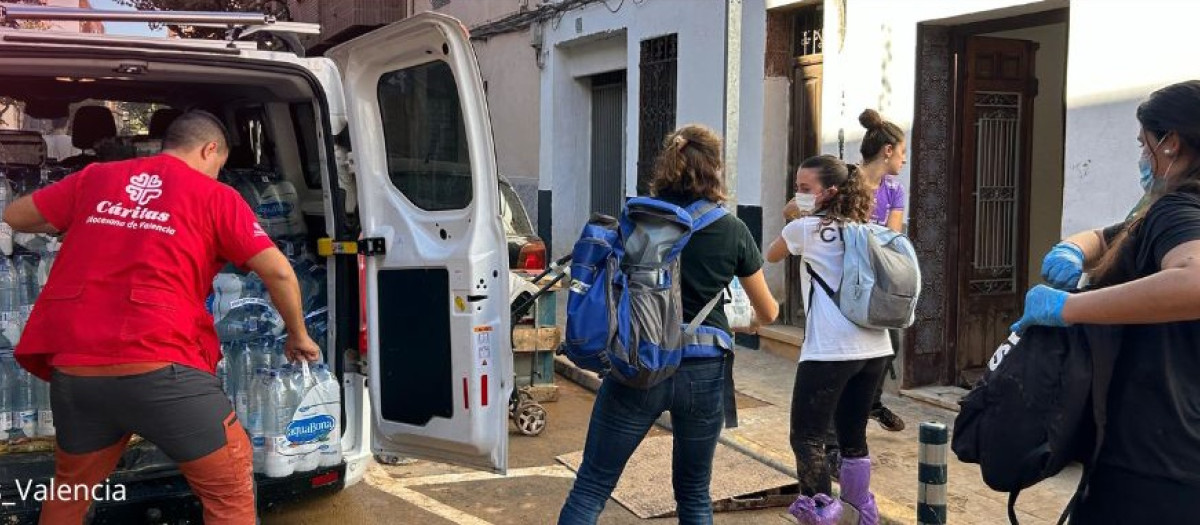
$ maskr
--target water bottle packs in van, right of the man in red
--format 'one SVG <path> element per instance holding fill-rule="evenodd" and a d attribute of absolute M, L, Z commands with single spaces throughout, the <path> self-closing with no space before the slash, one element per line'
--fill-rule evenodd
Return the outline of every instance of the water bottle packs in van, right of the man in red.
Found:
<path fill-rule="evenodd" d="M 260 169 L 229 170 L 222 179 L 241 193 L 292 262 L 308 336 L 324 356 L 325 268 L 305 248 L 295 187 Z M 214 279 L 208 306 L 224 355 L 217 374 L 250 433 L 254 471 L 284 477 L 341 463 L 341 387 L 323 357 L 316 364 L 287 361 L 283 319 L 263 280 L 227 268 Z"/>

